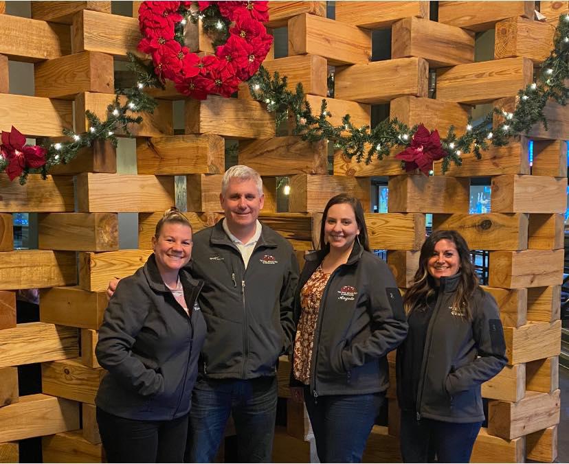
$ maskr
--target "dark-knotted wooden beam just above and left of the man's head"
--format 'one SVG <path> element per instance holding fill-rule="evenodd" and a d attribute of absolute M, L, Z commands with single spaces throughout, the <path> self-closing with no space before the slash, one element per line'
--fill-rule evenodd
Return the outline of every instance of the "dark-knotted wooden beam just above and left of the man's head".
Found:
<path fill-rule="evenodd" d="M 172 135 L 137 139 L 138 174 L 223 174 L 225 140 L 219 135 Z"/>

